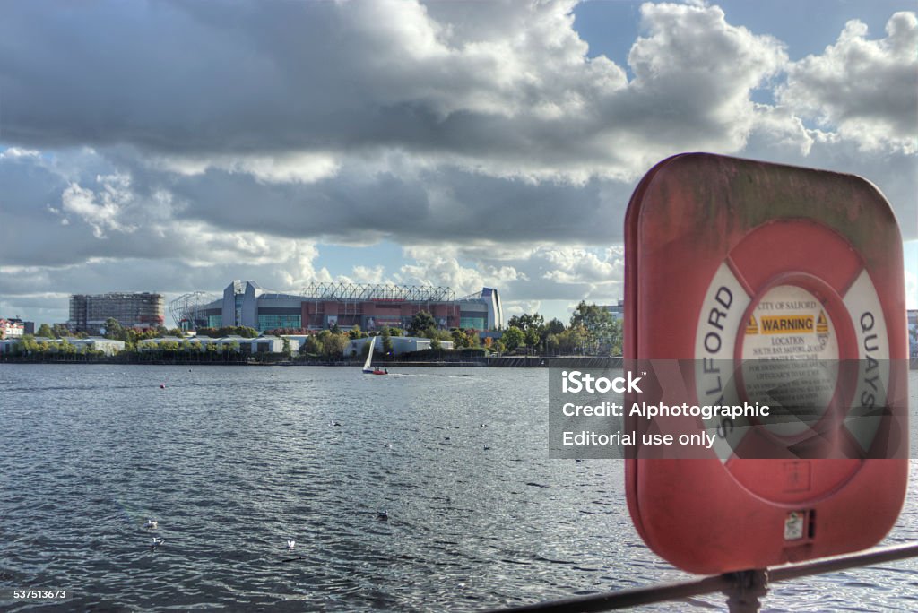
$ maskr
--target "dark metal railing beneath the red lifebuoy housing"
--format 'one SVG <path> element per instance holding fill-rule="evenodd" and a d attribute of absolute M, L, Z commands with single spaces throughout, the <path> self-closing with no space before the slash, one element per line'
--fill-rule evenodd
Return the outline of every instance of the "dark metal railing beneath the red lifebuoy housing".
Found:
<path fill-rule="evenodd" d="M 492 609 L 488 613 L 580 613 L 584 611 L 612 611 L 621 608 L 639 607 L 667 600 L 688 598 L 722 592 L 727 596 L 731 613 L 747 613 L 759 610 L 759 598 L 765 596 L 768 584 L 788 581 L 812 574 L 834 573 L 858 566 L 869 566 L 904 560 L 918 556 L 918 543 L 881 547 L 867 552 L 849 553 L 823 558 L 813 562 L 775 566 L 768 569 L 726 573 L 694 581 L 652 585 L 634 589 L 609 592 L 595 596 L 582 596 L 553 600 L 522 607 Z"/>

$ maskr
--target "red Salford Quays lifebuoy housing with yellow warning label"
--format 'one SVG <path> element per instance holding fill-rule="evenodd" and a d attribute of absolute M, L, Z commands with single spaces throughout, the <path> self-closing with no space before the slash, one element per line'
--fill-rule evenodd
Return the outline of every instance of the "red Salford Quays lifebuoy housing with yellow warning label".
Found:
<path fill-rule="evenodd" d="M 625 428 L 712 440 L 626 459 L 654 552 L 712 574 L 883 538 L 908 472 L 902 268 L 889 203 L 862 178 L 700 153 L 644 176 L 625 217 L 624 355 L 646 385 Z"/>

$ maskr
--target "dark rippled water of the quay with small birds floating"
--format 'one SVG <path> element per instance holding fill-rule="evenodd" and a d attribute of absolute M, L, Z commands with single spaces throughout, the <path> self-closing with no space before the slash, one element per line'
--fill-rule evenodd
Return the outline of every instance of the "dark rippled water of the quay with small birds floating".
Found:
<path fill-rule="evenodd" d="M 547 459 L 547 385 L 537 369 L 5 364 L 0 597 L 471 611 L 686 578 L 635 533 L 621 462 Z M 918 540 L 913 484 L 888 544 Z M 915 610 L 918 563 L 774 585 L 766 606 Z M 723 597 L 657 610 L 711 607 Z"/>

